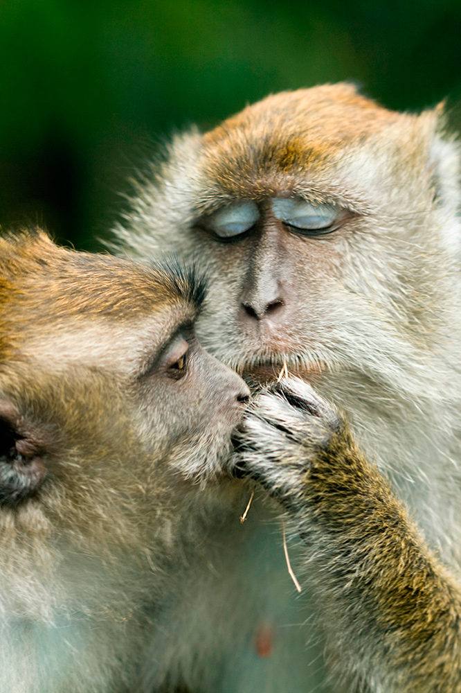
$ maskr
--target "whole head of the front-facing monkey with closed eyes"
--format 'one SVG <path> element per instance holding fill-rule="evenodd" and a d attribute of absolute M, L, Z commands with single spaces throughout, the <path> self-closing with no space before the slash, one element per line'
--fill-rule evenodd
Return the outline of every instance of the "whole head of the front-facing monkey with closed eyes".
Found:
<path fill-rule="evenodd" d="M 443 128 L 440 109 L 391 112 L 347 84 L 269 96 L 174 140 L 118 238 L 200 258 L 199 335 L 239 372 L 408 379 L 453 310 L 458 146 Z"/>

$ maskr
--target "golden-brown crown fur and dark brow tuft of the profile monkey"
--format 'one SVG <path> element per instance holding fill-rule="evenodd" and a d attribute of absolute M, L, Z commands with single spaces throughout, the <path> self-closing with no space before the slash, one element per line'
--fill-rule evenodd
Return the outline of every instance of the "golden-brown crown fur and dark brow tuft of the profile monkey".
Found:
<path fill-rule="evenodd" d="M 192 319 L 204 294 L 204 280 L 173 260 L 135 265 L 57 247 L 40 229 L 17 231 L 0 237 L 0 362 L 12 358 L 13 349 L 24 352 L 30 340 L 42 339 L 44 326 L 58 342 L 72 326 L 142 321 L 180 312 L 184 301 Z"/>

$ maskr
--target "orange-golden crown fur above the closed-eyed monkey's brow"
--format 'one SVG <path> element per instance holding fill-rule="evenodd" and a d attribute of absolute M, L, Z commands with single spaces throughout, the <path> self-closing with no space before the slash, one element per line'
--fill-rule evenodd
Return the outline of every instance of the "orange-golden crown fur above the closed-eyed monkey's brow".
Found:
<path fill-rule="evenodd" d="M 392 112 L 348 84 L 282 91 L 206 133 L 198 166 L 204 183 L 215 181 L 221 194 L 263 200 L 295 191 L 300 177 L 323 177 L 347 152 L 367 144 L 387 141 L 392 146 L 397 138 L 399 148 L 420 156 L 425 133 L 418 132 L 436 122 L 435 112 Z"/>

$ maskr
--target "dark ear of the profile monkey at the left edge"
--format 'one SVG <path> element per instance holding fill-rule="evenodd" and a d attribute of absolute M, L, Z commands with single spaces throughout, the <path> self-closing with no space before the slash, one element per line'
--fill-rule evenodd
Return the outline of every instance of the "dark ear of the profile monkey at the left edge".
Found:
<path fill-rule="evenodd" d="M 0 505 L 16 505 L 37 491 L 46 475 L 46 450 L 44 432 L 0 399 Z"/>

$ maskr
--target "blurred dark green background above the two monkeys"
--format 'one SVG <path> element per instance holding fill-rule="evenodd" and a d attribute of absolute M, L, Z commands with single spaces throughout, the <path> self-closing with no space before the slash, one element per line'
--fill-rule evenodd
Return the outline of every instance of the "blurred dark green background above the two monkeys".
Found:
<path fill-rule="evenodd" d="M 93 249 L 134 166 L 271 91 L 461 96 L 459 0 L 0 0 L 0 224 Z"/>

